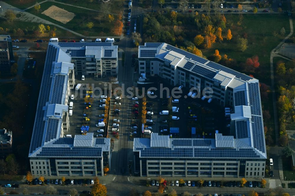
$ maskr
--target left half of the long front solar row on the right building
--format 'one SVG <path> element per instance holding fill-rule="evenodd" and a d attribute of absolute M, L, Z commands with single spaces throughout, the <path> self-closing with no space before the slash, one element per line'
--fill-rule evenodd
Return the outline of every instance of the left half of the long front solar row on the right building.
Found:
<path fill-rule="evenodd" d="M 141 157 L 193 157 L 192 148 L 145 148 L 140 151 Z"/>

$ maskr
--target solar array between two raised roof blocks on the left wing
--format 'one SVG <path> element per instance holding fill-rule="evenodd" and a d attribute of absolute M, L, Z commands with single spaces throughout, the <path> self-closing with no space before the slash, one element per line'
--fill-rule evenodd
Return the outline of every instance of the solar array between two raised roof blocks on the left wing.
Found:
<path fill-rule="evenodd" d="M 65 75 L 56 74 L 51 95 L 51 104 L 62 104 L 63 85 L 65 83 Z M 50 88 L 50 87 L 49 87 Z"/>

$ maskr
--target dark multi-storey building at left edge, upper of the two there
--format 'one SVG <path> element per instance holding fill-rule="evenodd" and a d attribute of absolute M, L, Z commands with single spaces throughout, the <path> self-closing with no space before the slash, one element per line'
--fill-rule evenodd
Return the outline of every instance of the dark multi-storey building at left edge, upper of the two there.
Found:
<path fill-rule="evenodd" d="M 12 39 L 10 35 L 0 35 L 0 72 L 9 73 L 14 63 Z"/>

